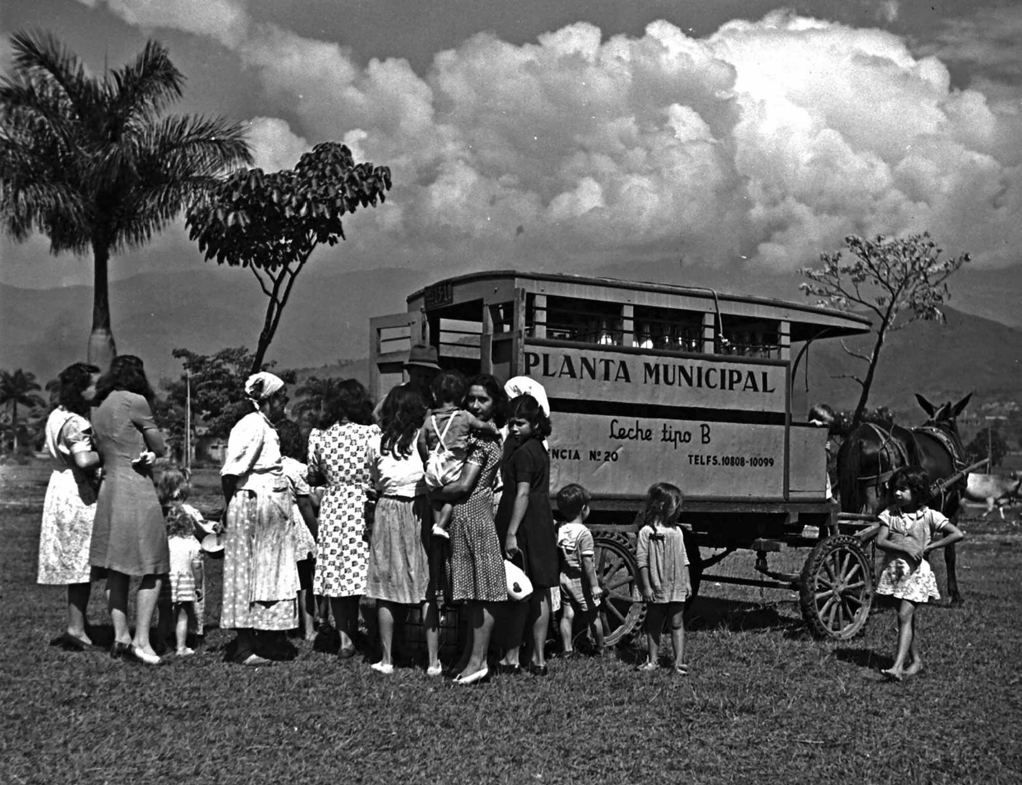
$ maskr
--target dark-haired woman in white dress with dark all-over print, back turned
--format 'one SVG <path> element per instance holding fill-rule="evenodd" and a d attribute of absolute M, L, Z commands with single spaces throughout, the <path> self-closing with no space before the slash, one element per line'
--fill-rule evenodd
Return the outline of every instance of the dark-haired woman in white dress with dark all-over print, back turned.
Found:
<path fill-rule="evenodd" d="M 365 594 L 369 544 L 365 507 L 369 473 L 366 451 L 380 429 L 371 424 L 372 402 L 355 379 L 337 384 L 327 405 L 333 423 L 309 435 L 309 483 L 326 486 L 320 502 L 316 594 L 330 598 L 340 634 L 338 656 L 355 656 L 359 598 Z"/>

